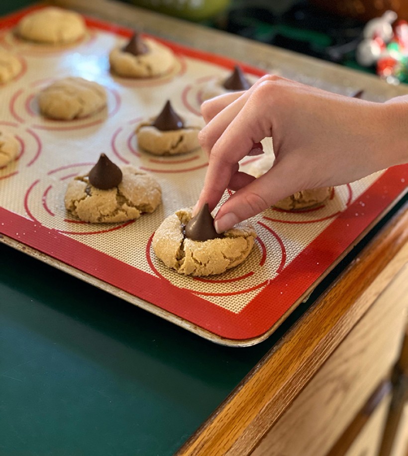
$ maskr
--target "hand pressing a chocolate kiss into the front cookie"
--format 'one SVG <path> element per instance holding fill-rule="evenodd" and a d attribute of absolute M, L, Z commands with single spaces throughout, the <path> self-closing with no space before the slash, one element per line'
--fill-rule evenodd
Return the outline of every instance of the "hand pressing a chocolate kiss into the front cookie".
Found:
<path fill-rule="evenodd" d="M 212 210 L 226 188 L 235 190 L 215 215 L 221 233 L 296 191 L 353 182 L 400 163 L 384 153 L 396 133 L 390 105 L 277 76 L 205 101 L 199 140 L 209 164 L 196 208 L 207 202 Z M 239 172 L 239 160 L 258 153 L 268 137 L 272 168 L 258 179 Z"/>

